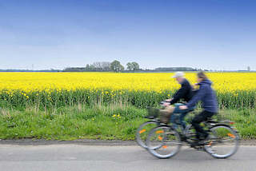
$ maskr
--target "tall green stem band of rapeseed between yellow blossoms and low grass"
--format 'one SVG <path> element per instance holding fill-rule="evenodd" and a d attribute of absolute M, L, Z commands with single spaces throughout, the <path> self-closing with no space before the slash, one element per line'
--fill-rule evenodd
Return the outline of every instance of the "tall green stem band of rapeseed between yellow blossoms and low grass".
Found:
<path fill-rule="evenodd" d="M 155 91 L 115 90 L 115 89 L 74 89 L 60 91 L 56 89 L 22 92 L 21 90 L 1 90 L 0 107 L 26 109 L 27 106 L 58 108 L 78 104 L 110 105 L 127 104 L 138 108 L 157 106 L 162 99 L 172 97 L 175 89 Z M 255 90 L 238 90 L 235 92 L 217 92 L 220 109 L 254 109 L 256 106 Z"/>

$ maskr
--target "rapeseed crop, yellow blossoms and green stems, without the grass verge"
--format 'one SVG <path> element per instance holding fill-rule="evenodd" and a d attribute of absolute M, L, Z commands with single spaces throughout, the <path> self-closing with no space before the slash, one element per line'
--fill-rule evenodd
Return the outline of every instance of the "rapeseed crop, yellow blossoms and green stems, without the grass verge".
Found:
<path fill-rule="evenodd" d="M 122 103 L 138 108 L 157 105 L 179 85 L 172 74 L 0 73 L 0 106 L 39 108 Z M 256 104 L 256 73 L 208 73 L 222 109 Z M 186 78 L 195 83 L 195 74 Z"/>

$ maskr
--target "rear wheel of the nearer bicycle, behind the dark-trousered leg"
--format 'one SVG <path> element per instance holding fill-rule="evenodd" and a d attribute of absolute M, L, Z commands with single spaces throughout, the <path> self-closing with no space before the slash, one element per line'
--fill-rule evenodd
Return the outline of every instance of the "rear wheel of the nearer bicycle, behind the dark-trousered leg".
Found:
<path fill-rule="evenodd" d="M 215 125 L 210 129 L 210 138 L 205 149 L 215 158 L 231 157 L 238 151 L 238 133 L 228 125 Z"/>

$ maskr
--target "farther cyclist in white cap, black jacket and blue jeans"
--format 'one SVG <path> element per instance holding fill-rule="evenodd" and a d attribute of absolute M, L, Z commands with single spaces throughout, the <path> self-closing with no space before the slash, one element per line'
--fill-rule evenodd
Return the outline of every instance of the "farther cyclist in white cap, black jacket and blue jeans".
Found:
<path fill-rule="evenodd" d="M 185 74 L 183 72 L 176 72 L 174 74 L 174 76 L 172 78 L 175 78 L 176 81 L 178 82 L 178 84 L 181 84 L 182 87 L 180 89 L 178 89 L 178 91 L 176 93 L 174 93 L 173 98 L 171 99 L 166 99 L 166 103 L 164 104 L 166 106 L 166 109 L 160 109 L 160 113 L 162 113 L 162 122 L 169 122 L 171 121 L 172 123 L 174 123 L 176 117 L 175 115 L 171 115 L 172 113 L 181 113 L 179 115 L 179 121 L 181 123 L 181 125 L 183 126 L 183 128 L 186 128 L 186 123 L 184 121 L 184 117 L 186 116 L 186 113 L 189 112 L 190 109 L 184 109 L 181 110 L 178 108 L 178 106 L 180 105 L 184 105 L 182 103 L 178 103 L 175 104 L 175 106 L 172 106 L 174 103 L 180 101 L 181 99 L 183 101 L 190 101 L 190 99 L 192 98 L 192 86 L 190 85 L 190 82 L 188 82 L 186 80 L 186 78 L 184 77 Z M 191 107 L 192 108 L 192 107 Z M 161 117 L 160 117 L 161 118 Z M 177 128 L 177 125 L 174 124 L 174 127 Z"/>

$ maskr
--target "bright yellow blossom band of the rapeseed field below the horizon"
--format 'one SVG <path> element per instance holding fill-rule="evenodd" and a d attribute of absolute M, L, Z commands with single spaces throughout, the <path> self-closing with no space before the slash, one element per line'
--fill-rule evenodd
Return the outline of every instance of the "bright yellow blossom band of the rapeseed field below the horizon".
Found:
<path fill-rule="evenodd" d="M 25 92 L 44 89 L 129 89 L 161 92 L 178 89 L 171 73 L 113 74 L 113 73 L 0 73 L 0 90 L 20 89 Z M 256 89 L 256 73 L 208 73 L 219 92 Z M 186 78 L 195 83 L 195 74 Z"/>

